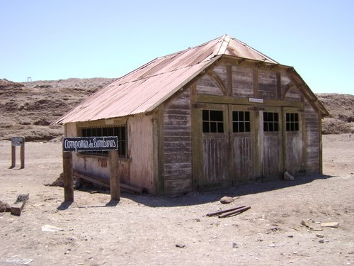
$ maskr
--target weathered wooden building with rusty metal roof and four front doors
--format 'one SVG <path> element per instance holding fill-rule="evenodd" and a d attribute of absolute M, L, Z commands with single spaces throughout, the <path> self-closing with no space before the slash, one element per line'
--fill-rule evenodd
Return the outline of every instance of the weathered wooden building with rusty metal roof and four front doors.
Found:
<path fill-rule="evenodd" d="M 229 35 L 158 57 L 56 123 L 65 135 L 118 135 L 120 182 L 151 194 L 319 174 L 324 106 L 293 67 Z M 107 153 L 73 167 L 109 184 Z"/>

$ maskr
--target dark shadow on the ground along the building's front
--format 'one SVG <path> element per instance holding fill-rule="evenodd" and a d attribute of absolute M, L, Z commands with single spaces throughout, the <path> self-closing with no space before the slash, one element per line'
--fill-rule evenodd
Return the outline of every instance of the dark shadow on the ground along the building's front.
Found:
<path fill-rule="evenodd" d="M 191 192 L 188 194 L 179 194 L 175 196 L 153 196 L 149 194 L 131 194 L 122 192 L 122 196 L 135 201 L 139 204 L 150 207 L 174 207 L 174 206 L 191 206 L 198 204 L 206 204 L 213 201 L 219 201 L 223 196 L 244 196 L 249 194 L 258 194 L 269 192 L 277 189 L 285 189 L 287 187 L 301 186 L 308 184 L 317 179 L 329 179 L 334 176 L 329 175 L 312 175 L 295 177 L 295 180 L 286 181 L 283 179 L 273 180 L 269 182 L 256 182 L 252 184 L 244 184 L 238 187 L 228 189 L 217 189 L 209 192 Z"/>

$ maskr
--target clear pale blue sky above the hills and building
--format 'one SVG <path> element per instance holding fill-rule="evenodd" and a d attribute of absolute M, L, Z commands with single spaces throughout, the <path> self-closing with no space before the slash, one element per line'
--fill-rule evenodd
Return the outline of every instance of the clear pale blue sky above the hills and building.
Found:
<path fill-rule="evenodd" d="M 316 93 L 354 94 L 354 1 L 0 0 L 0 78 L 120 77 L 228 34 Z"/>

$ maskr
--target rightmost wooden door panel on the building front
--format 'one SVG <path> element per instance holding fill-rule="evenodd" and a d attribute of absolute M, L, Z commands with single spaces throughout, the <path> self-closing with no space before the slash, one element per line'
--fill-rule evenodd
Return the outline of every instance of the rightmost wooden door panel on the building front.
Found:
<path fill-rule="evenodd" d="M 284 108 L 282 113 L 285 171 L 297 175 L 303 161 L 302 113 L 295 108 Z"/>

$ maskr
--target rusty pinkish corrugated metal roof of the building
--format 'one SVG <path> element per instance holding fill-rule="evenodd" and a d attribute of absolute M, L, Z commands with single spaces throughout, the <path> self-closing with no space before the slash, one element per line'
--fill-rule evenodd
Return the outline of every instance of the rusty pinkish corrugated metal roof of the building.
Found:
<path fill-rule="evenodd" d="M 229 35 L 157 57 L 93 94 L 55 123 L 94 121 L 152 111 L 222 55 L 278 64 Z"/>

